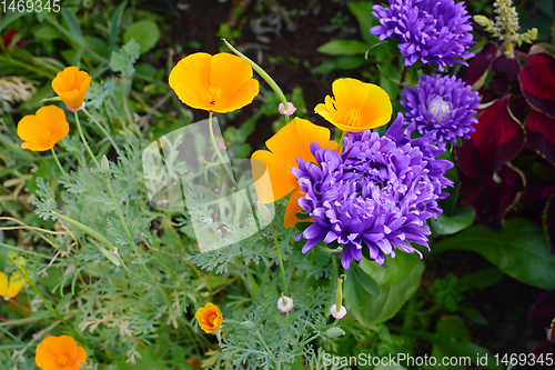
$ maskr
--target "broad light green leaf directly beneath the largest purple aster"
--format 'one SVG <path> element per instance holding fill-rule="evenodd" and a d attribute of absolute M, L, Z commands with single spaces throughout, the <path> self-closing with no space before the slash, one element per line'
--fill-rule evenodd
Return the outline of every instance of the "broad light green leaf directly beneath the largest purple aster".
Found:
<path fill-rule="evenodd" d="M 350 271 L 350 270 L 347 270 Z M 391 319 L 416 292 L 420 279 L 424 272 L 424 262 L 417 261 L 410 272 L 401 280 L 384 288 L 382 296 L 370 296 L 354 279 L 352 272 L 347 272 L 347 279 L 343 283 L 343 299 L 347 312 L 365 328 Z"/>

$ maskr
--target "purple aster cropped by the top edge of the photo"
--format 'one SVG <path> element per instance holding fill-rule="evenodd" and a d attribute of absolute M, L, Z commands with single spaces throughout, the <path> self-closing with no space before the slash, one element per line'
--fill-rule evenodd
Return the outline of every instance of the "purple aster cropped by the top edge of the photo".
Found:
<path fill-rule="evenodd" d="M 443 71 L 453 63 L 466 64 L 458 58 L 474 57 L 466 49 L 475 43 L 464 2 L 453 0 L 390 0 L 390 8 L 374 6 L 372 14 L 382 26 L 370 29 L 380 41 L 394 38 L 405 57 L 405 66 L 418 59 Z"/>

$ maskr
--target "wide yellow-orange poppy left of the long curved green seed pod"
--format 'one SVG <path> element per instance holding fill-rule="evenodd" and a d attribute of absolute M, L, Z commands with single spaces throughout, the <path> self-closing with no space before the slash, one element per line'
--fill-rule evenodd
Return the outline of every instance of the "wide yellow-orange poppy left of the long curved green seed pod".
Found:
<path fill-rule="evenodd" d="M 225 52 L 213 57 L 198 52 L 181 59 L 169 82 L 183 103 L 219 113 L 243 108 L 259 93 L 251 64 Z"/>

